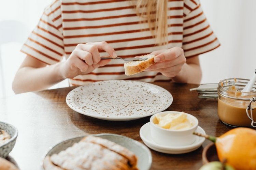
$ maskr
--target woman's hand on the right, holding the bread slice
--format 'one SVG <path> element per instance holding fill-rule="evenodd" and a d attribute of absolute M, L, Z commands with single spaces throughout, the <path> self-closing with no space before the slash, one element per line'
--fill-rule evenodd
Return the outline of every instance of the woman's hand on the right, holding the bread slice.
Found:
<path fill-rule="evenodd" d="M 156 56 L 154 58 L 155 64 L 145 71 L 160 72 L 162 75 L 170 78 L 179 74 L 182 66 L 186 63 L 183 49 L 180 47 L 153 51 L 151 55 Z"/>

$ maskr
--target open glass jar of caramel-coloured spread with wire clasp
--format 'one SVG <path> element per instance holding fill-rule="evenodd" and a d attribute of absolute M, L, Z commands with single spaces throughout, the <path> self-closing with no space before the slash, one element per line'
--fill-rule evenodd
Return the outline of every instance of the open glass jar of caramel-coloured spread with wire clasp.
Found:
<path fill-rule="evenodd" d="M 246 113 L 246 108 L 256 96 L 256 84 L 251 92 L 241 93 L 248 81 L 248 79 L 230 78 L 219 82 L 218 116 L 223 123 L 234 127 L 246 127 L 253 125 L 253 118 L 256 120 L 256 110 L 252 110 L 252 120 L 249 118 L 250 110 L 248 115 Z M 251 107 L 256 108 L 256 102 L 251 102 Z"/>

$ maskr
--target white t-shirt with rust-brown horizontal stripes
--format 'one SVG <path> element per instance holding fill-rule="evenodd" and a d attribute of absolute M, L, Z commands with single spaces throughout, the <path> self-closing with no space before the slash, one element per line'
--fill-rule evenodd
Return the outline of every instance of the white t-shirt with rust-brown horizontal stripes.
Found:
<path fill-rule="evenodd" d="M 148 24 L 141 23 L 130 0 L 55 0 L 46 7 L 21 51 L 44 63 L 55 64 L 63 56 L 68 58 L 77 44 L 87 42 L 106 41 L 118 57 L 140 56 L 177 46 L 184 49 L 188 58 L 219 46 L 199 0 L 168 0 L 167 15 L 168 44 L 156 46 Z M 126 76 L 123 63 L 112 60 L 89 74 L 70 79 L 70 84 L 110 79 L 171 81 L 157 72 Z"/>

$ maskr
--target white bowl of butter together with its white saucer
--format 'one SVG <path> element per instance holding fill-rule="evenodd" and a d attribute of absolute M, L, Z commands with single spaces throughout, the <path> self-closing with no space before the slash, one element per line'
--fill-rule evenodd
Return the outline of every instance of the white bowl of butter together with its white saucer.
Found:
<path fill-rule="evenodd" d="M 154 151 L 183 154 L 200 148 L 205 140 L 193 132 L 205 134 L 196 117 L 179 111 L 165 111 L 151 116 L 150 122 L 140 128 L 140 137 Z"/>

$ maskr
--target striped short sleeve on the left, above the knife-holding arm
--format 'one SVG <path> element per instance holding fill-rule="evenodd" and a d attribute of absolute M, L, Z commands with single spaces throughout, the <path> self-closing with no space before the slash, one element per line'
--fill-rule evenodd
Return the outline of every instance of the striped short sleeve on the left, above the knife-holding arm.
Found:
<path fill-rule="evenodd" d="M 21 51 L 46 64 L 61 61 L 64 52 L 61 3 L 55 0 L 45 8 L 38 25 L 34 28 Z"/>

